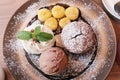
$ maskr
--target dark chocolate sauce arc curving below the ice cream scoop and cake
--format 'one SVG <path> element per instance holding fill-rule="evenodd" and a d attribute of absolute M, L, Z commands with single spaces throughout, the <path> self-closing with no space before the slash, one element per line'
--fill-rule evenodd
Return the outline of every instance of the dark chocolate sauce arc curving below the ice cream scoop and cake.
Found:
<path fill-rule="evenodd" d="M 96 48 L 97 48 L 97 46 L 96 46 Z M 65 51 L 66 55 L 69 57 L 69 54 L 71 54 L 71 53 L 70 53 L 69 51 L 67 51 L 66 49 L 64 49 L 64 48 L 62 48 L 62 49 Z M 30 55 L 35 55 L 35 54 L 28 54 L 28 53 L 25 51 L 25 56 L 26 56 L 28 62 L 29 62 L 37 71 L 39 71 L 40 74 L 42 74 L 43 76 L 47 77 L 48 79 L 50 79 L 50 80 L 70 80 L 70 79 L 73 79 L 73 78 L 75 78 L 75 77 L 83 74 L 83 73 L 92 65 L 93 61 L 95 60 L 96 54 L 97 54 L 96 51 L 97 51 L 97 50 L 95 50 L 95 52 L 92 54 L 91 61 L 88 63 L 88 65 L 87 65 L 82 71 L 80 71 L 77 75 L 71 75 L 71 74 L 69 73 L 68 76 L 63 76 L 63 75 L 53 76 L 53 75 L 45 74 L 45 73 L 44 73 L 41 69 L 39 69 L 39 68 L 35 65 L 35 63 L 31 60 Z M 75 55 L 75 54 L 72 54 L 72 55 L 73 55 L 73 56 L 78 56 L 78 57 L 80 56 L 80 55 Z M 39 57 L 40 57 L 40 55 L 35 55 L 35 56 L 39 56 Z"/>

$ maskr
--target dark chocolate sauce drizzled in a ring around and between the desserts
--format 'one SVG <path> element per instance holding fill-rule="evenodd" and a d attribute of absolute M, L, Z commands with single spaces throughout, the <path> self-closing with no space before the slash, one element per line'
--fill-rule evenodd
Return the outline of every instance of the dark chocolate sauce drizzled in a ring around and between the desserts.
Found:
<path fill-rule="evenodd" d="M 69 6 L 66 5 L 66 4 L 61 4 L 61 3 L 58 3 L 56 5 L 61 5 L 63 6 L 65 9 L 68 8 Z M 42 7 L 42 8 L 47 8 L 47 9 L 52 9 L 54 5 L 51 5 L 51 6 L 45 6 L 45 7 Z M 40 8 L 40 9 L 42 9 Z M 36 15 L 35 17 L 33 17 L 31 19 L 31 21 L 28 23 L 27 26 L 30 26 L 33 22 L 35 22 L 36 20 L 38 20 L 38 16 Z M 81 12 L 79 10 L 79 18 L 74 20 L 74 21 L 79 21 L 79 20 L 83 20 L 85 23 L 89 24 L 82 16 L 81 16 Z M 73 22 L 73 21 L 72 21 Z M 42 23 L 44 24 L 44 23 Z M 62 28 L 58 27 L 57 30 L 53 31 L 54 35 L 57 35 L 57 34 L 60 34 L 62 31 Z M 54 45 L 56 47 L 56 44 Z M 64 50 L 64 52 L 66 53 L 66 55 L 69 57 L 70 55 L 72 56 L 75 56 L 76 57 L 76 60 L 77 58 L 79 58 L 79 56 L 81 55 L 76 55 L 76 54 L 73 54 L 73 53 L 70 53 L 68 50 L 66 50 L 65 48 L 62 48 Z M 48 75 L 48 74 L 45 74 L 40 68 L 38 68 L 36 66 L 36 64 L 32 61 L 32 59 L 30 58 L 31 55 L 33 56 L 38 56 L 40 57 L 40 55 L 35 55 L 35 54 L 29 54 L 25 51 L 25 56 L 28 60 L 28 62 L 37 70 L 39 71 L 40 74 L 42 74 L 43 76 L 47 77 L 48 79 L 50 80 L 70 80 L 70 79 L 73 79 L 81 74 L 83 74 L 93 63 L 93 61 L 95 60 L 95 57 L 96 57 L 96 54 L 97 54 L 97 42 L 95 44 L 95 51 L 94 53 L 92 54 L 92 57 L 91 57 L 91 60 L 90 62 L 88 63 L 88 65 L 86 67 L 84 67 L 84 69 L 82 69 L 79 73 L 77 73 L 76 75 L 72 75 L 71 72 L 67 73 L 67 76 L 64 76 L 64 75 L 56 75 L 56 76 L 53 76 L 53 75 Z M 67 71 L 67 70 L 66 70 Z"/>

